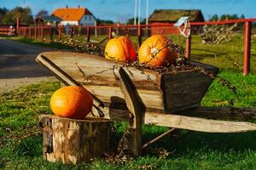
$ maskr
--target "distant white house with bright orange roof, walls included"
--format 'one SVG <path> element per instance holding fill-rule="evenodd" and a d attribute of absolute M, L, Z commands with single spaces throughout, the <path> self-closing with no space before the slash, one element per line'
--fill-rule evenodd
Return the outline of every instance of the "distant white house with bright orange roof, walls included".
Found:
<path fill-rule="evenodd" d="M 87 8 L 57 8 L 51 15 L 61 18 L 61 26 L 96 25 L 96 17 Z"/>

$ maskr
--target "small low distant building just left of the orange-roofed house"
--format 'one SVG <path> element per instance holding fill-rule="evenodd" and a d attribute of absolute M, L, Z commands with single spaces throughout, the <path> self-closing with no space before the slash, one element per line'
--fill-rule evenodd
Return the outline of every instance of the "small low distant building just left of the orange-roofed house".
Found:
<path fill-rule="evenodd" d="M 35 19 L 36 26 L 58 26 L 61 19 L 55 16 L 42 15 Z"/>

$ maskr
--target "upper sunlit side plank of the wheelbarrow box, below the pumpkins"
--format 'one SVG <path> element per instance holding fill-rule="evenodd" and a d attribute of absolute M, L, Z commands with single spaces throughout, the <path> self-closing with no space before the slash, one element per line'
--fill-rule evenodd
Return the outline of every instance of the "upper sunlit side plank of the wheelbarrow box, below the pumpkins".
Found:
<path fill-rule="evenodd" d="M 55 56 L 54 54 L 44 53 L 44 56 L 49 58 L 62 71 L 67 72 L 67 74 L 73 77 L 77 82 L 93 82 L 96 84 L 117 87 L 118 82 L 113 74 L 113 69 L 115 67 L 125 67 L 125 70 L 129 74 L 129 77 L 131 77 L 132 82 L 136 82 L 135 86 L 137 88 L 152 90 L 157 90 L 155 88 L 158 88 L 156 86 L 157 74 L 155 71 L 139 71 L 135 67 L 125 66 L 124 63 L 111 62 L 108 59 L 97 57 L 95 55 L 89 55 L 88 57 L 87 55 L 82 55 L 82 57 L 74 55 L 70 56 L 69 60 L 67 59 L 67 56 L 69 55 L 65 56 L 65 54 L 63 54 L 64 56 Z M 68 62 L 64 62 L 65 60 L 68 60 Z"/>

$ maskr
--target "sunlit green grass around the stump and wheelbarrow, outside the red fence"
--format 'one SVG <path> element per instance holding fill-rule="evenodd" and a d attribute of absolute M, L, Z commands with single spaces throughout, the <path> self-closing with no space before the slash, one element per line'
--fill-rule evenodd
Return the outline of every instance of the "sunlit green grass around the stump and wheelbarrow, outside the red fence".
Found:
<path fill-rule="evenodd" d="M 256 105 L 256 76 L 221 71 L 220 77 L 232 82 L 236 96 L 219 82 L 213 82 L 203 105 Z M 122 164 L 96 159 L 87 164 L 62 165 L 44 161 L 38 116 L 51 113 L 49 98 L 60 82 L 42 82 L 0 94 L 0 169 L 255 169 L 256 132 L 199 133 L 183 130 L 183 139 L 166 136 L 143 150 L 143 156 Z M 117 124 L 116 124 L 117 125 Z M 26 128 L 27 127 L 27 128 Z M 113 133 L 113 141 L 119 139 Z M 143 141 L 166 131 L 166 127 L 143 126 Z M 3 142 L 4 140 L 4 142 Z M 164 153 L 170 152 L 168 156 Z"/>

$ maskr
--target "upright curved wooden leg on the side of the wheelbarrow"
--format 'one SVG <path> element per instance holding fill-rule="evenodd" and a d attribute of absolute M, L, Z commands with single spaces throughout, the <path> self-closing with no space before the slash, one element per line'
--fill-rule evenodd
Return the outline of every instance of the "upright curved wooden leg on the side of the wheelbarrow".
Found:
<path fill-rule="evenodd" d="M 123 68 L 117 72 L 119 86 L 124 94 L 125 103 L 131 112 L 130 133 L 131 133 L 131 153 L 133 156 L 140 156 L 142 152 L 142 117 L 144 110 L 143 102 L 140 100 L 133 87 L 130 77 Z"/>

